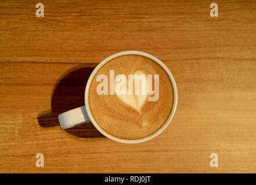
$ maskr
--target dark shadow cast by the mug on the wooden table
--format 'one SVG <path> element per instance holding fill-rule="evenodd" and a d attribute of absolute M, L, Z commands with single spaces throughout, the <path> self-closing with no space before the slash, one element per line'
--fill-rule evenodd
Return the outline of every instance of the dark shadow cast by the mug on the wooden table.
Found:
<path fill-rule="evenodd" d="M 84 106 L 85 86 L 93 69 L 98 64 L 82 64 L 65 72 L 52 92 L 51 110 L 37 115 L 41 127 L 60 126 L 58 116 L 67 110 Z M 64 131 L 80 138 L 104 137 L 91 122 L 68 128 Z"/>

